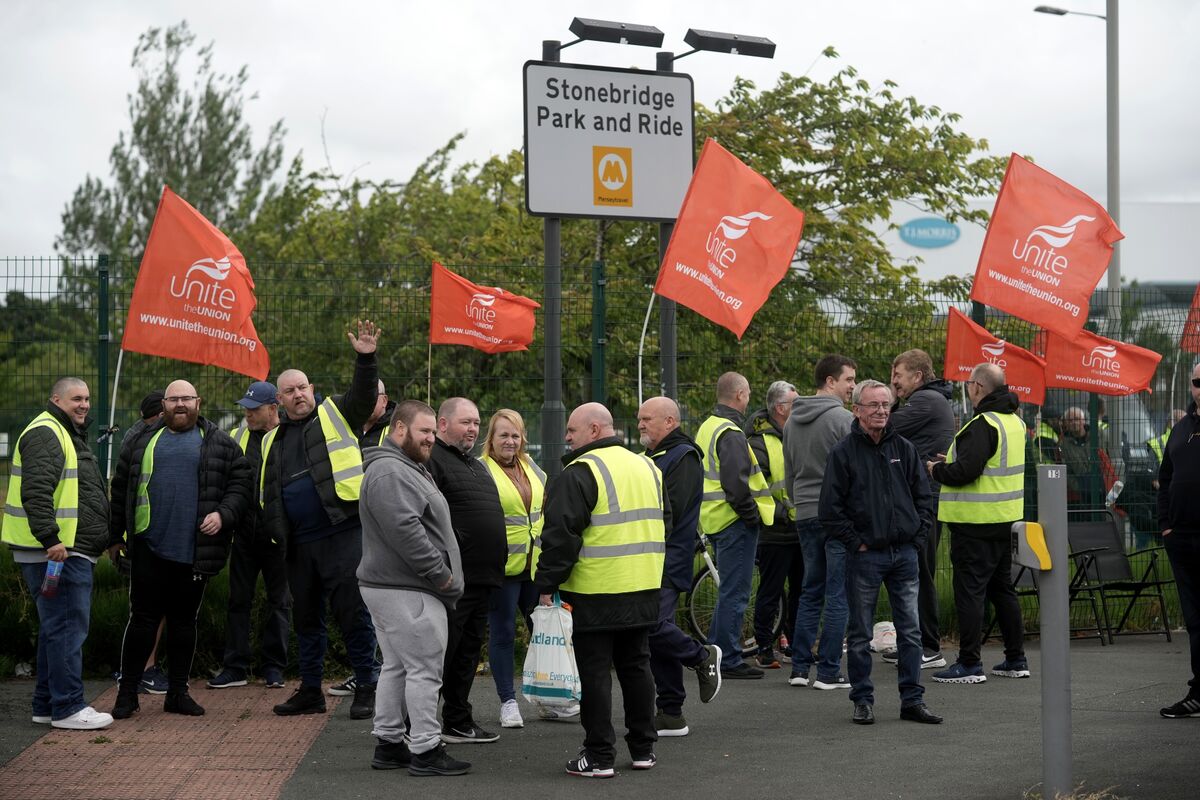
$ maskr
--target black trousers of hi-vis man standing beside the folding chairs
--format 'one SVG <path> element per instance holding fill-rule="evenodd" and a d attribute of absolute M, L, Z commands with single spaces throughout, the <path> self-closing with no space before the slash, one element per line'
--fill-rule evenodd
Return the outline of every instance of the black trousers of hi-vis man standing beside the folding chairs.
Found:
<path fill-rule="evenodd" d="M 996 609 L 1004 638 L 1004 657 L 1025 658 L 1025 624 L 1013 591 L 1013 552 L 1007 540 L 974 539 L 950 528 L 950 564 L 954 566 L 954 607 L 959 612 L 959 661 L 979 663 L 984 602 Z"/>

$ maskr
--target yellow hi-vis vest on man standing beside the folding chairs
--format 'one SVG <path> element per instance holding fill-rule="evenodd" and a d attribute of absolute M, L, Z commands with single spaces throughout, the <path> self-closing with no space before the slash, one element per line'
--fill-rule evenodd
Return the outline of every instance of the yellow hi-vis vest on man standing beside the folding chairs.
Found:
<path fill-rule="evenodd" d="M 995 411 L 977 415 L 971 422 L 980 416 L 996 429 L 1000 444 L 988 457 L 983 474 L 973 482 L 966 486 L 942 485 L 937 500 L 937 518 L 941 522 L 982 525 L 1015 522 L 1025 516 L 1025 422 L 1015 414 Z M 947 464 L 954 463 L 959 433 L 954 434 L 950 450 L 946 453 Z"/>

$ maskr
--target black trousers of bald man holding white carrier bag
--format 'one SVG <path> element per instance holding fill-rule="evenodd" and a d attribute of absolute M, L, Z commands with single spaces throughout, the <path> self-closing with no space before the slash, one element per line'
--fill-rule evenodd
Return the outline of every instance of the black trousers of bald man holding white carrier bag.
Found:
<path fill-rule="evenodd" d="M 634 758 L 654 752 L 654 676 L 650 674 L 648 627 L 623 631 L 576 631 L 575 661 L 580 668 L 580 721 L 583 747 L 599 766 L 612 766 L 617 733 L 612 727 L 612 673 L 625 704 L 625 744 Z"/>

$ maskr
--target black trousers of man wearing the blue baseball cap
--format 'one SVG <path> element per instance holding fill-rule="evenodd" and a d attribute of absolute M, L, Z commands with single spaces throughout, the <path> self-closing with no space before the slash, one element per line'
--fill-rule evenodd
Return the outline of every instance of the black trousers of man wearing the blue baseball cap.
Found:
<path fill-rule="evenodd" d="M 259 632 L 262 668 L 280 672 L 288 663 L 288 625 L 292 594 L 288 591 L 288 570 L 283 551 L 265 537 L 252 534 L 234 536 L 229 554 L 229 619 L 226 622 L 224 666 L 244 675 L 250 672 L 253 654 L 250 650 L 251 610 L 258 573 L 266 587 L 266 619 Z"/>

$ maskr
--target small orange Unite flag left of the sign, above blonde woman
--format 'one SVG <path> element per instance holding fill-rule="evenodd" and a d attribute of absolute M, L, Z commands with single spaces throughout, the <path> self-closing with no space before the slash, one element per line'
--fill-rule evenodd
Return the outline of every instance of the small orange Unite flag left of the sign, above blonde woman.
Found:
<path fill-rule="evenodd" d="M 534 308 L 541 305 L 504 289 L 475 285 L 433 263 L 431 344 L 466 344 L 484 353 L 528 350 Z"/>

